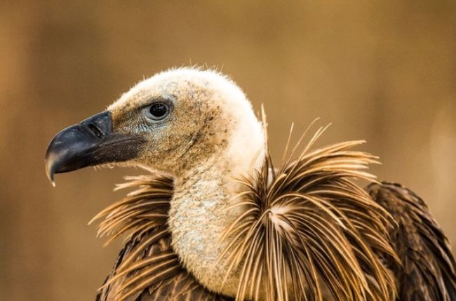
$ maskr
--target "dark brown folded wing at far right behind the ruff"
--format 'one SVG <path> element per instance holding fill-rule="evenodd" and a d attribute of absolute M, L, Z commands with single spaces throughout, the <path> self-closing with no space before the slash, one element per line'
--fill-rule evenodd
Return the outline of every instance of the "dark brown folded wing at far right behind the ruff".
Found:
<path fill-rule="evenodd" d="M 394 183 L 367 187 L 397 225 L 392 244 L 402 265 L 389 264 L 398 281 L 398 300 L 456 300 L 455 260 L 448 239 L 419 196 Z"/>

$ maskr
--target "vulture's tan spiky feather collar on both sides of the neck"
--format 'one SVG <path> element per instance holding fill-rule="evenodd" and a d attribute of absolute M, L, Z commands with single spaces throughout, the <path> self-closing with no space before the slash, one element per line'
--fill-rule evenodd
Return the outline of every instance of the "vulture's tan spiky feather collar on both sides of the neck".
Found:
<path fill-rule="evenodd" d="M 387 257 L 397 260 L 388 242 L 392 220 L 352 182 L 373 181 L 364 170 L 376 158 L 350 150 L 363 141 L 309 152 L 323 131 L 316 132 L 297 160 L 288 159 L 274 170 L 267 154 L 261 170 L 239 180 L 245 191 L 236 206 L 246 210 L 226 229 L 227 248 L 219 260 L 229 270 L 240 268 L 237 300 L 322 300 L 323 286 L 337 300 L 394 298 L 394 280 L 382 264 Z M 191 279 L 188 289 L 196 289 L 199 284 L 169 245 L 166 220 L 173 179 L 159 174 L 126 179 L 117 189 L 138 189 L 93 219 L 105 218 L 99 236 L 112 241 L 125 235 L 127 242 L 102 295 L 129 300 L 143 290 L 159 290 L 163 281 L 182 273 Z"/>

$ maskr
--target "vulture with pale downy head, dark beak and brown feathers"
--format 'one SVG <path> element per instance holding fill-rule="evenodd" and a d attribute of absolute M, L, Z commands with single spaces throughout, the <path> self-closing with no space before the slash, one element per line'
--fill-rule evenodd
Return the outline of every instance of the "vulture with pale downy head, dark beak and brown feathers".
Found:
<path fill-rule="evenodd" d="M 420 196 L 368 172 L 364 141 L 316 148 L 326 127 L 309 127 L 290 146 L 290 131 L 274 165 L 260 115 L 229 77 L 181 67 L 55 135 L 52 183 L 147 170 L 94 218 L 124 239 L 97 300 L 456 300 L 448 239 Z"/>

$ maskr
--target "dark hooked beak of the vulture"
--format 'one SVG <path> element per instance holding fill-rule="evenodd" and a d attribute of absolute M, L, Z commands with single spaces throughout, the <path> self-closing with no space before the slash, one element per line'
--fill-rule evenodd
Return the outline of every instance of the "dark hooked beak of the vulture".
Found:
<path fill-rule="evenodd" d="M 128 161 L 138 155 L 144 142 L 139 135 L 112 133 L 111 114 L 96 114 L 55 135 L 44 159 L 46 175 L 55 186 L 55 173 Z"/>

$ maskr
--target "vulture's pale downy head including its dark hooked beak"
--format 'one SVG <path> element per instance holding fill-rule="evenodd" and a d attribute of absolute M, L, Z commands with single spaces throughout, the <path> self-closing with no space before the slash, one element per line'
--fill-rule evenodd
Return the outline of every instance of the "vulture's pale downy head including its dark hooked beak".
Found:
<path fill-rule="evenodd" d="M 212 70 L 173 69 L 58 133 L 46 153 L 46 173 L 53 181 L 55 173 L 114 164 L 183 175 L 221 154 L 251 161 L 246 152 L 259 152 L 263 140 L 250 102 L 233 81 Z"/>

